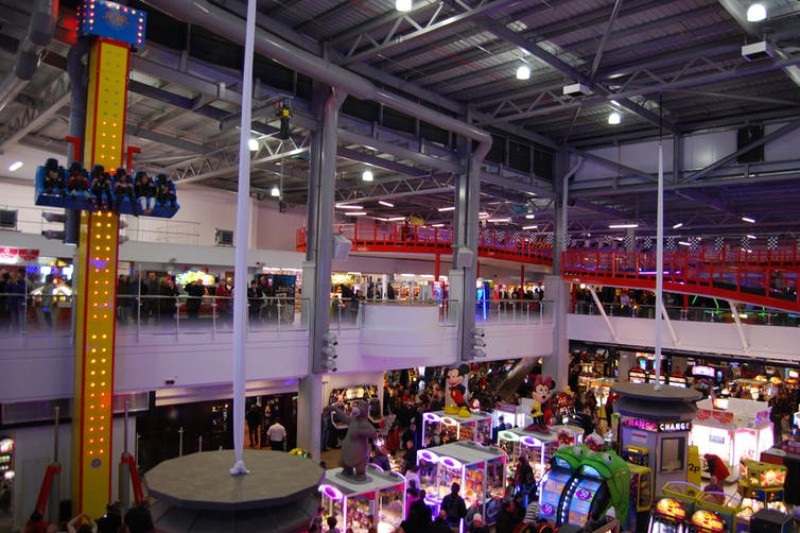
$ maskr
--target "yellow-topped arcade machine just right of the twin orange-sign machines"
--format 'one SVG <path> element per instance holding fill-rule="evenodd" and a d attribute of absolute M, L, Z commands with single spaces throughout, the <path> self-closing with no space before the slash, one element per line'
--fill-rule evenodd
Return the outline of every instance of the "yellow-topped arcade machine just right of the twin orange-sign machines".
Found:
<path fill-rule="evenodd" d="M 738 522 L 749 525 L 752 515 L 761 509 L 786 512 L 783 503 L 785 466 L 744 460 L 740 472 L 737 491 L 742 497 L 742 510 L 736 515 Z"/>

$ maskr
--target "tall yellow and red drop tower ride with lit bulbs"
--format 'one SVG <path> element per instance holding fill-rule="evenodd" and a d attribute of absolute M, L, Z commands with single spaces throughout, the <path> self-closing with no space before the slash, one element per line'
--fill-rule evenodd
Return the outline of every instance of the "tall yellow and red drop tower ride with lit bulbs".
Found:
<path fill-rule="evenodd" d="M 114 2 L 84 0 L 78 19 L 80 38 L 89 42 L 84 138 L 68 138 L 74 148 L 69 176 L 55 161 L 47 162 L 46 172 L 40 170 L 36 204 L 80 210 L 71 500 L 73 515 L 101 516 L 115 499 L 110 455 L 119 212 L 111 209 L 120 209 L 120 202 L 114 201 L 111 176 L 128 179 L 122 169 L 128 74 L 131 48 L 144 45 L 145 13 Z M 85 169 L 94 169 L 94 175 Z M 90 177 L 102 185 L 102 201 L 90 197 Z M 125 209 L 135 209 L 132 196 Z M 143 494 L 133 456 L 123 453 L 122 463 L 138 502 Z M 120 492 L 127 489 L 127 480 L 121 482 Z"/>

